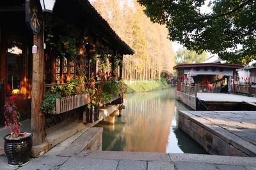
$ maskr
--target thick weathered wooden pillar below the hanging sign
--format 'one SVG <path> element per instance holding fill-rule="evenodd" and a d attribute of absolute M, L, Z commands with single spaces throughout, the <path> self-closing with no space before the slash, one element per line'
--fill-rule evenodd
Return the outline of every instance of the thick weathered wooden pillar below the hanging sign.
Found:
<path fill-rule="evenodd" d="M 31 132 L 33 145 L 40 145 L 45 138 L 45 118 L 40 111 L 44 94 L 44 31 L 33 36 L 33 43 L 37 46 L 37 53 L 33 54 L 32 101 L 31 101 Z"/>

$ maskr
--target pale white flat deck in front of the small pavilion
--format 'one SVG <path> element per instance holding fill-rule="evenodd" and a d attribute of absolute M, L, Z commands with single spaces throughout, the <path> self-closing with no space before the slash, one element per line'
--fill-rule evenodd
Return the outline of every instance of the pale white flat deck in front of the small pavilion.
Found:
<path fill-rule="evenodd" d="M 238 94 L 197 93 L 196 97 L 200 101 L 205 102 L 256 103 L 256 97 L 248 97 Z"/>

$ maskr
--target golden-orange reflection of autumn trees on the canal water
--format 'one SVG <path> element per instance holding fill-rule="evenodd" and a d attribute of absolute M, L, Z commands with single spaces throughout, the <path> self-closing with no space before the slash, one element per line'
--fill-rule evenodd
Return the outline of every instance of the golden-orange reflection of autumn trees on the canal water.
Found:
<path fill-rule="evenodd" d="M 133 94 L 125 100 L 124 151 L 165 152 L 170 134 L 174 101 L 171 90 Z"/>

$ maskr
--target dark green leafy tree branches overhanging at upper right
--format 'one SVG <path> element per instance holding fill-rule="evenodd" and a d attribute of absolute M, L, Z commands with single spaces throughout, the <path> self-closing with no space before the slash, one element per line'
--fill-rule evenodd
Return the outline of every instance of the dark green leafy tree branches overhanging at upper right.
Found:
<path fill-rule="evenodd" d="M 217 53 L 223 60 L 248 64 L 256 59 L 256 1 L 137 0 L 152 22 L 166 24 L 172 41 L 188 50 Z"/>

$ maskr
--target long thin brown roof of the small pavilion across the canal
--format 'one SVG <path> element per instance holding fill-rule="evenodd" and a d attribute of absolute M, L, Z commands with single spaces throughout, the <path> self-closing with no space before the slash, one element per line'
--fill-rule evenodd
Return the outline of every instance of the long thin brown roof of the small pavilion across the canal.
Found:
<path fill-rule="evenodd" d="M 243 68 L 244 66 L 241 64 L 196 63 L 196 64 L 179 64 L 177 66 L 174 66 L 173 69 L 191 68 L 191 67 L 223 67 L 223 68 L 240 69 L 240 68 Z"/>

